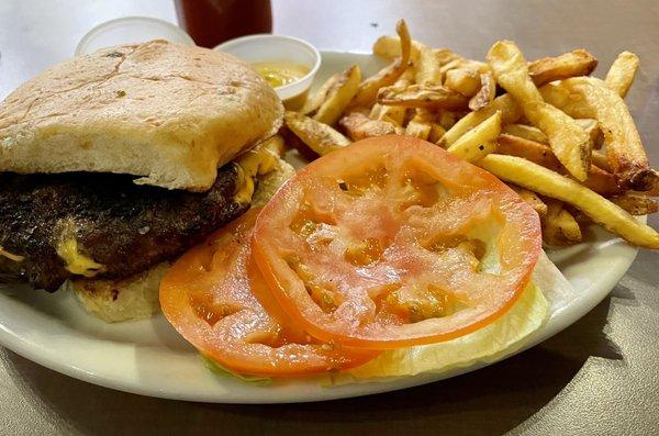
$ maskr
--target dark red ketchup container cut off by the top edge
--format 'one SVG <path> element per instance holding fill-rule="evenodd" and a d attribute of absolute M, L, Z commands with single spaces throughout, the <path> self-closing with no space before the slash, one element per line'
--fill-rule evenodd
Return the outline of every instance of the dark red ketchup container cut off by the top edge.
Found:
<path fill-rule="evenodd" d="M 203 47 L 272 32 L 270 0 L 176 0 L 176 12 L 181 26 Z"/>

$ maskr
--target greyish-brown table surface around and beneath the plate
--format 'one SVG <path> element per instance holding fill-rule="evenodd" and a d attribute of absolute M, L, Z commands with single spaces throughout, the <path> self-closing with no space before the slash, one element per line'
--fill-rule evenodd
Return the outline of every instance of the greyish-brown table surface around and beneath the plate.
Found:
<path fill-rule="evenodd" d="M 176 22 L 167 0 L 0 1 L 0 96 L 70 56 L 92 25 L 135 14 Z M 273 15 L 276 32 L 333 49 L 369 51 L 405 18 L 415 38 L 479 58 L 504 37 L 530 58 L 585 47 L 602 74 L 618 52 L 634 51 L 641 72 L 628 102 L 659 166 L 656 0 L 278 0 Z M 164 401 L 87 384 L 0 350 L 0 434 L 659 434 L 658 260 L 640 253 L 611 297 L 522 355 L 370 398 L 269 406 Z"/>

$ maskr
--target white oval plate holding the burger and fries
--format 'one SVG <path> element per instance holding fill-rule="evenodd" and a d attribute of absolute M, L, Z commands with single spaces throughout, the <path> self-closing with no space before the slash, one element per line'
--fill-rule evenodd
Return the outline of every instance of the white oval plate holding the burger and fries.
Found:
<path fill-rule="evenodd" d="M 325 52 L 317 82 L 351 64 L 359 64 L 366 74 L 382 65 L 370 55 Z M 522 349 L 510 355 L 585 315 L 636 257 L 636 248 L 599 228 L 590 241 L 549 253 L 580 297 L 552 313 Z M 0 343 L 30 360 L 90 383 L 150 396 L 217 403 L 287 403 L 367 395 L 446 379 L 491 364 L 334 388 L 322 387 L 317 379 L 254 385 L 211 373 L 163 315 L 105 324 L 88 315 L 70 292 L 48 294 L 24 286 L 0 287 Z"/>

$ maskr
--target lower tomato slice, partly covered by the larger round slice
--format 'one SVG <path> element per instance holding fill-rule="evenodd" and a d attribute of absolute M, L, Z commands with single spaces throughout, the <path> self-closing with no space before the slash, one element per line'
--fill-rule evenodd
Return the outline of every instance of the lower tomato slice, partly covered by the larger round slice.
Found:
<path fill-rule="evenodd" d="M 281 377 L 354 367 L 377 356 L 312 339 L 291 323 L 252 261 L 252 210 L 186 253 L 160 283 L 171 325 L 239 373 Z"/>

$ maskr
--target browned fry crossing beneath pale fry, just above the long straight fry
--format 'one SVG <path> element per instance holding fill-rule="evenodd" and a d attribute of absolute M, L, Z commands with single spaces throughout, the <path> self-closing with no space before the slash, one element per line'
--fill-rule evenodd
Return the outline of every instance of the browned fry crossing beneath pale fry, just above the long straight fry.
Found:
<path fill-rule="evenodd" d="M 522 157 L 552 171 L 559 174 L 567 172 L 551 152 L 551 148 L 545 144 L 509 134 L 500 135 L 498 143 L 498 154 Z M 602 195 L 613 195 L 621 192 L 615 177 L 594 165 L 591 165 L 588 178 L 583 185 Z"/>

